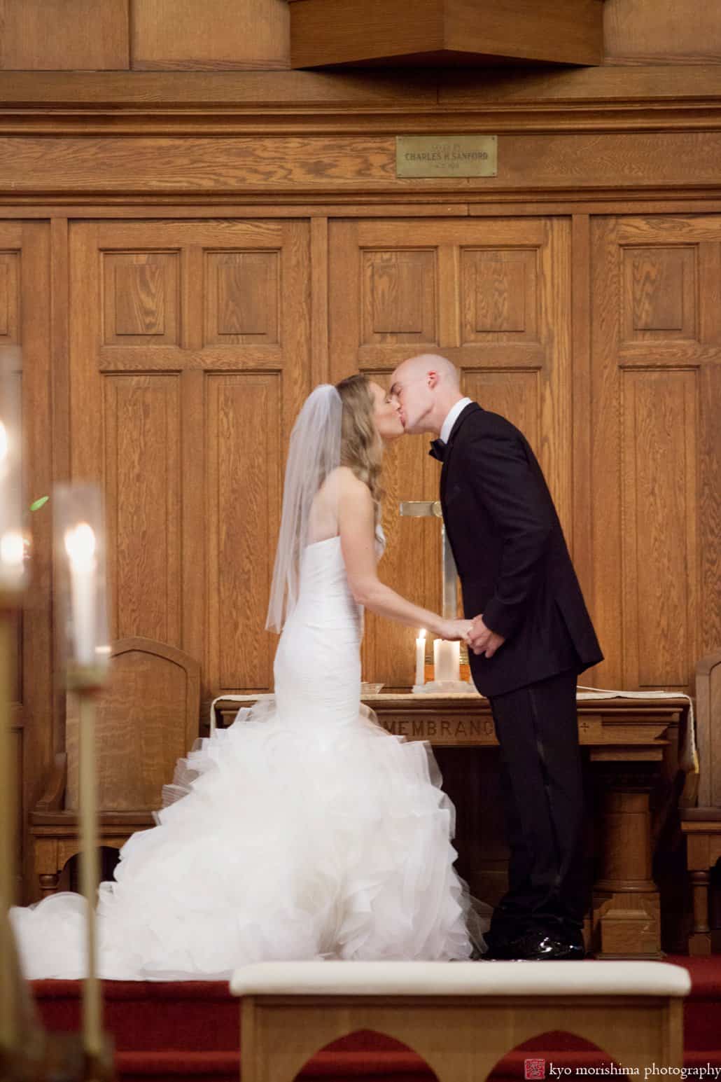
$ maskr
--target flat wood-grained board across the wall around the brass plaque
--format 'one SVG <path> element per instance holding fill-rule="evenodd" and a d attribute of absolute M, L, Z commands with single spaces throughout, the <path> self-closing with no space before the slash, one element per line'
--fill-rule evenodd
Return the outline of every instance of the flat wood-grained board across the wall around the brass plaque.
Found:
<path fill-rule="evenodd" d="M 500 136 L 498 175 L 398 180 L 390 137 L 0 138 L 0 196 L 452 190 L 579 193 L 718 185 L 721 132 Z"/>

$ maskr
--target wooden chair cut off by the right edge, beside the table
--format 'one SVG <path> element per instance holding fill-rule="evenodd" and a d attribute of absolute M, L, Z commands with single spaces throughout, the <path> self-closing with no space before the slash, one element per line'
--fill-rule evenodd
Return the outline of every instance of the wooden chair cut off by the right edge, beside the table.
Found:
<path fill-rule="evenodd" d="M 709 873 L 721 858 L 721 654 L 702 658 L 696 668 L 697 807 L 682 808 L 686 867 L 691 875 L 694 925 L 689 953 L 721 951 L 721 929 L 709 923 Z"/>

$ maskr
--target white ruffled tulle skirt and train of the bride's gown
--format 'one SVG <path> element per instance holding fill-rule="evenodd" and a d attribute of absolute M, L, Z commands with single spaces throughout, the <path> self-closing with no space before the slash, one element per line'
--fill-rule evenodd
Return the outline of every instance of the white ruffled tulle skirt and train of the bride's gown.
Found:
<path fill-rule="evenodd" d="M 98 969 L 226 979 L 265 960 L 467 959 L 491 910 L 453 868 L 454 808 L 430 748 L 351 724 L 285 723 L 273 700 L 181 760 L 157 826 L 99 887 Z M 84 902 L 11 910 L 26 976 L 81 977 Z"/>

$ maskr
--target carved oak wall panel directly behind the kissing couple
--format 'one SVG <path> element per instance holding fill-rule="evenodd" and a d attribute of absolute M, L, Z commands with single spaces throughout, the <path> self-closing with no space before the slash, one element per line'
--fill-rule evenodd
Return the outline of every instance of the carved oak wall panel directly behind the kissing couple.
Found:
<path fill-rule="evenodd" d="M 332 222 L 329 298 L 334 381 L 360 369 L 383 383 L 415 353 L 450 357 L 465 393 L 526 434 L 570 531 L 568 220 Z M 386 454 L 380 573 L 438 611 L 439 524 L 398 513 L 401 500 L 438 498 L 427 449 L 426 437 L 405 436 Z M 369 613 L 365 678 L 409 687 L 416 634 Z"/>

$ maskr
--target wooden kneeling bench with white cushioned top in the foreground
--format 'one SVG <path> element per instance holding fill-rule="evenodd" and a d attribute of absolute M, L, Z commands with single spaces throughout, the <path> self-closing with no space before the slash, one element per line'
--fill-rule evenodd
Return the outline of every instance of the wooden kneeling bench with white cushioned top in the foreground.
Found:
<path fill-rule="evenodd" d="M 292 1082 L 331 1041 L 402 1041 L 439 1082 L 483 1082 L 551 1030 L 628 1069 L 683 1064 L 687 969 L 665 962 L 261 962 L 238 969 L 243 1082 Z"/>

